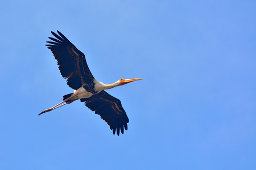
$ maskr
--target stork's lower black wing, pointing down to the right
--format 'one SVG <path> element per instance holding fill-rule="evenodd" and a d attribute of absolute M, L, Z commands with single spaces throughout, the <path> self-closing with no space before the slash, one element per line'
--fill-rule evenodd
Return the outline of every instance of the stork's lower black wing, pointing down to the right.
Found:
<path fill-rule="evenodd" d="M 85 101 L 86 107 L 99 114 L 108 123 L 110 129 L 113 130 L 113 134 L 115 134 L 115 130 L 117 130 L 117 135 L 119 135 L 120 130 L 123 134 L 123 128 L 127 130 L 129 118 L 119 99 L 102 90 L 100 93 L 89 98 L 80 99 L 80 101 Z"/>

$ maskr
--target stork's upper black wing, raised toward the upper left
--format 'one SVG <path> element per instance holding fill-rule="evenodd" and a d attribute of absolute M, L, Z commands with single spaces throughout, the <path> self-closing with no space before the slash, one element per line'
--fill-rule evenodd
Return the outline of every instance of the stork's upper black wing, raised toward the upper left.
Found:
<path fill-rule="evenodd" d="M 85 85 L 85 89 L 93 92 L 93 75 L 85 60 L 84 53 L 80 52 L 61 32 L 59 35 L 52 32 L 56 39 L 49 37 L 52 41 L 47 41 L 48 48 L 52 51 L 53 56 L 57 59 L 59 70 L 64 78 L 67 78 L 67 84 L 74 90 Z"/>

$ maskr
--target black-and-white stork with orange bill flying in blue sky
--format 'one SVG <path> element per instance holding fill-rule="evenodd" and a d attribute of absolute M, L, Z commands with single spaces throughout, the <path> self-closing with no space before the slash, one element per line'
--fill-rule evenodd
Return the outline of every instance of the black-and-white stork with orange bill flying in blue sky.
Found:
<path fill-rule="evenodd" d="M 85 102 L 86 107 L 99 114 L 108 123 L 113 134 L 115 131 L 117 135 L 119 131 L 123 134 L 123 129 L 127 130 L 129 118 L 121 101 L 109 95 L 105 90 L 142 79 L 119 79 L 112 84 L 99 82 L 90 73 L 84 53 L 80 52 L 61 32 L 57 31 L 59 35 L 51 33 L 56 39 L 49 37 L 52 41 L 46 41 L 48 43 L 46 46 L 57 59 L 60 74 L 67 79 L 68 86 L 73 88 L 74 92 L 64 95 L 63 101 L 38 115 L 80 99 L 81 102 Z"/>

